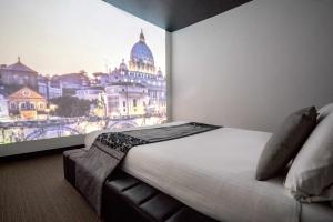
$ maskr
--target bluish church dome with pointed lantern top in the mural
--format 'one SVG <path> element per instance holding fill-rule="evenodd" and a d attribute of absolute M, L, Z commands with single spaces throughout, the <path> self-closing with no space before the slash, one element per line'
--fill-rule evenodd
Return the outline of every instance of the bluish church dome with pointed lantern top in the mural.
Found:
<path fill-rule="evenodd" d="M 139 62 L 149 65 L 154 65 L 154 58 L 151 50 L 145 44 L 144 36 L 141 30 L 140 40 L 137 42 L 131 50 L 131 62 Z"/>

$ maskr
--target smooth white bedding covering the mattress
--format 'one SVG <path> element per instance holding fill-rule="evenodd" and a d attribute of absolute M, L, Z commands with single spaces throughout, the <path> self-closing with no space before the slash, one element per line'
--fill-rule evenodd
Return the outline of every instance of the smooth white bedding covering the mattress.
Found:
<path fill-rule="evenodd" d="M 90 134 L 87 145 L 99 133 Z M 307 206 L 301 211 L 281 180 L 254 179 L 256 161 L 270 137 L 266 132 L 222 128 L 139 145 L 130 150 L 122 169 L 219 221 L 333 221 L 333 211 L 321 205 L 319 211 Z M 315 212 L 325 213 L 316 216 Z"/>

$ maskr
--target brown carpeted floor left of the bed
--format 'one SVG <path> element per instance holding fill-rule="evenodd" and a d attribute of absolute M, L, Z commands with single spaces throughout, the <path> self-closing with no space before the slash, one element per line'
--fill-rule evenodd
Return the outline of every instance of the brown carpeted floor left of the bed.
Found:
<path fill-rule="evenodd" d="M 68 183 L 62 154 L 0 163 L 1 222 L 99 221 Z"/>

